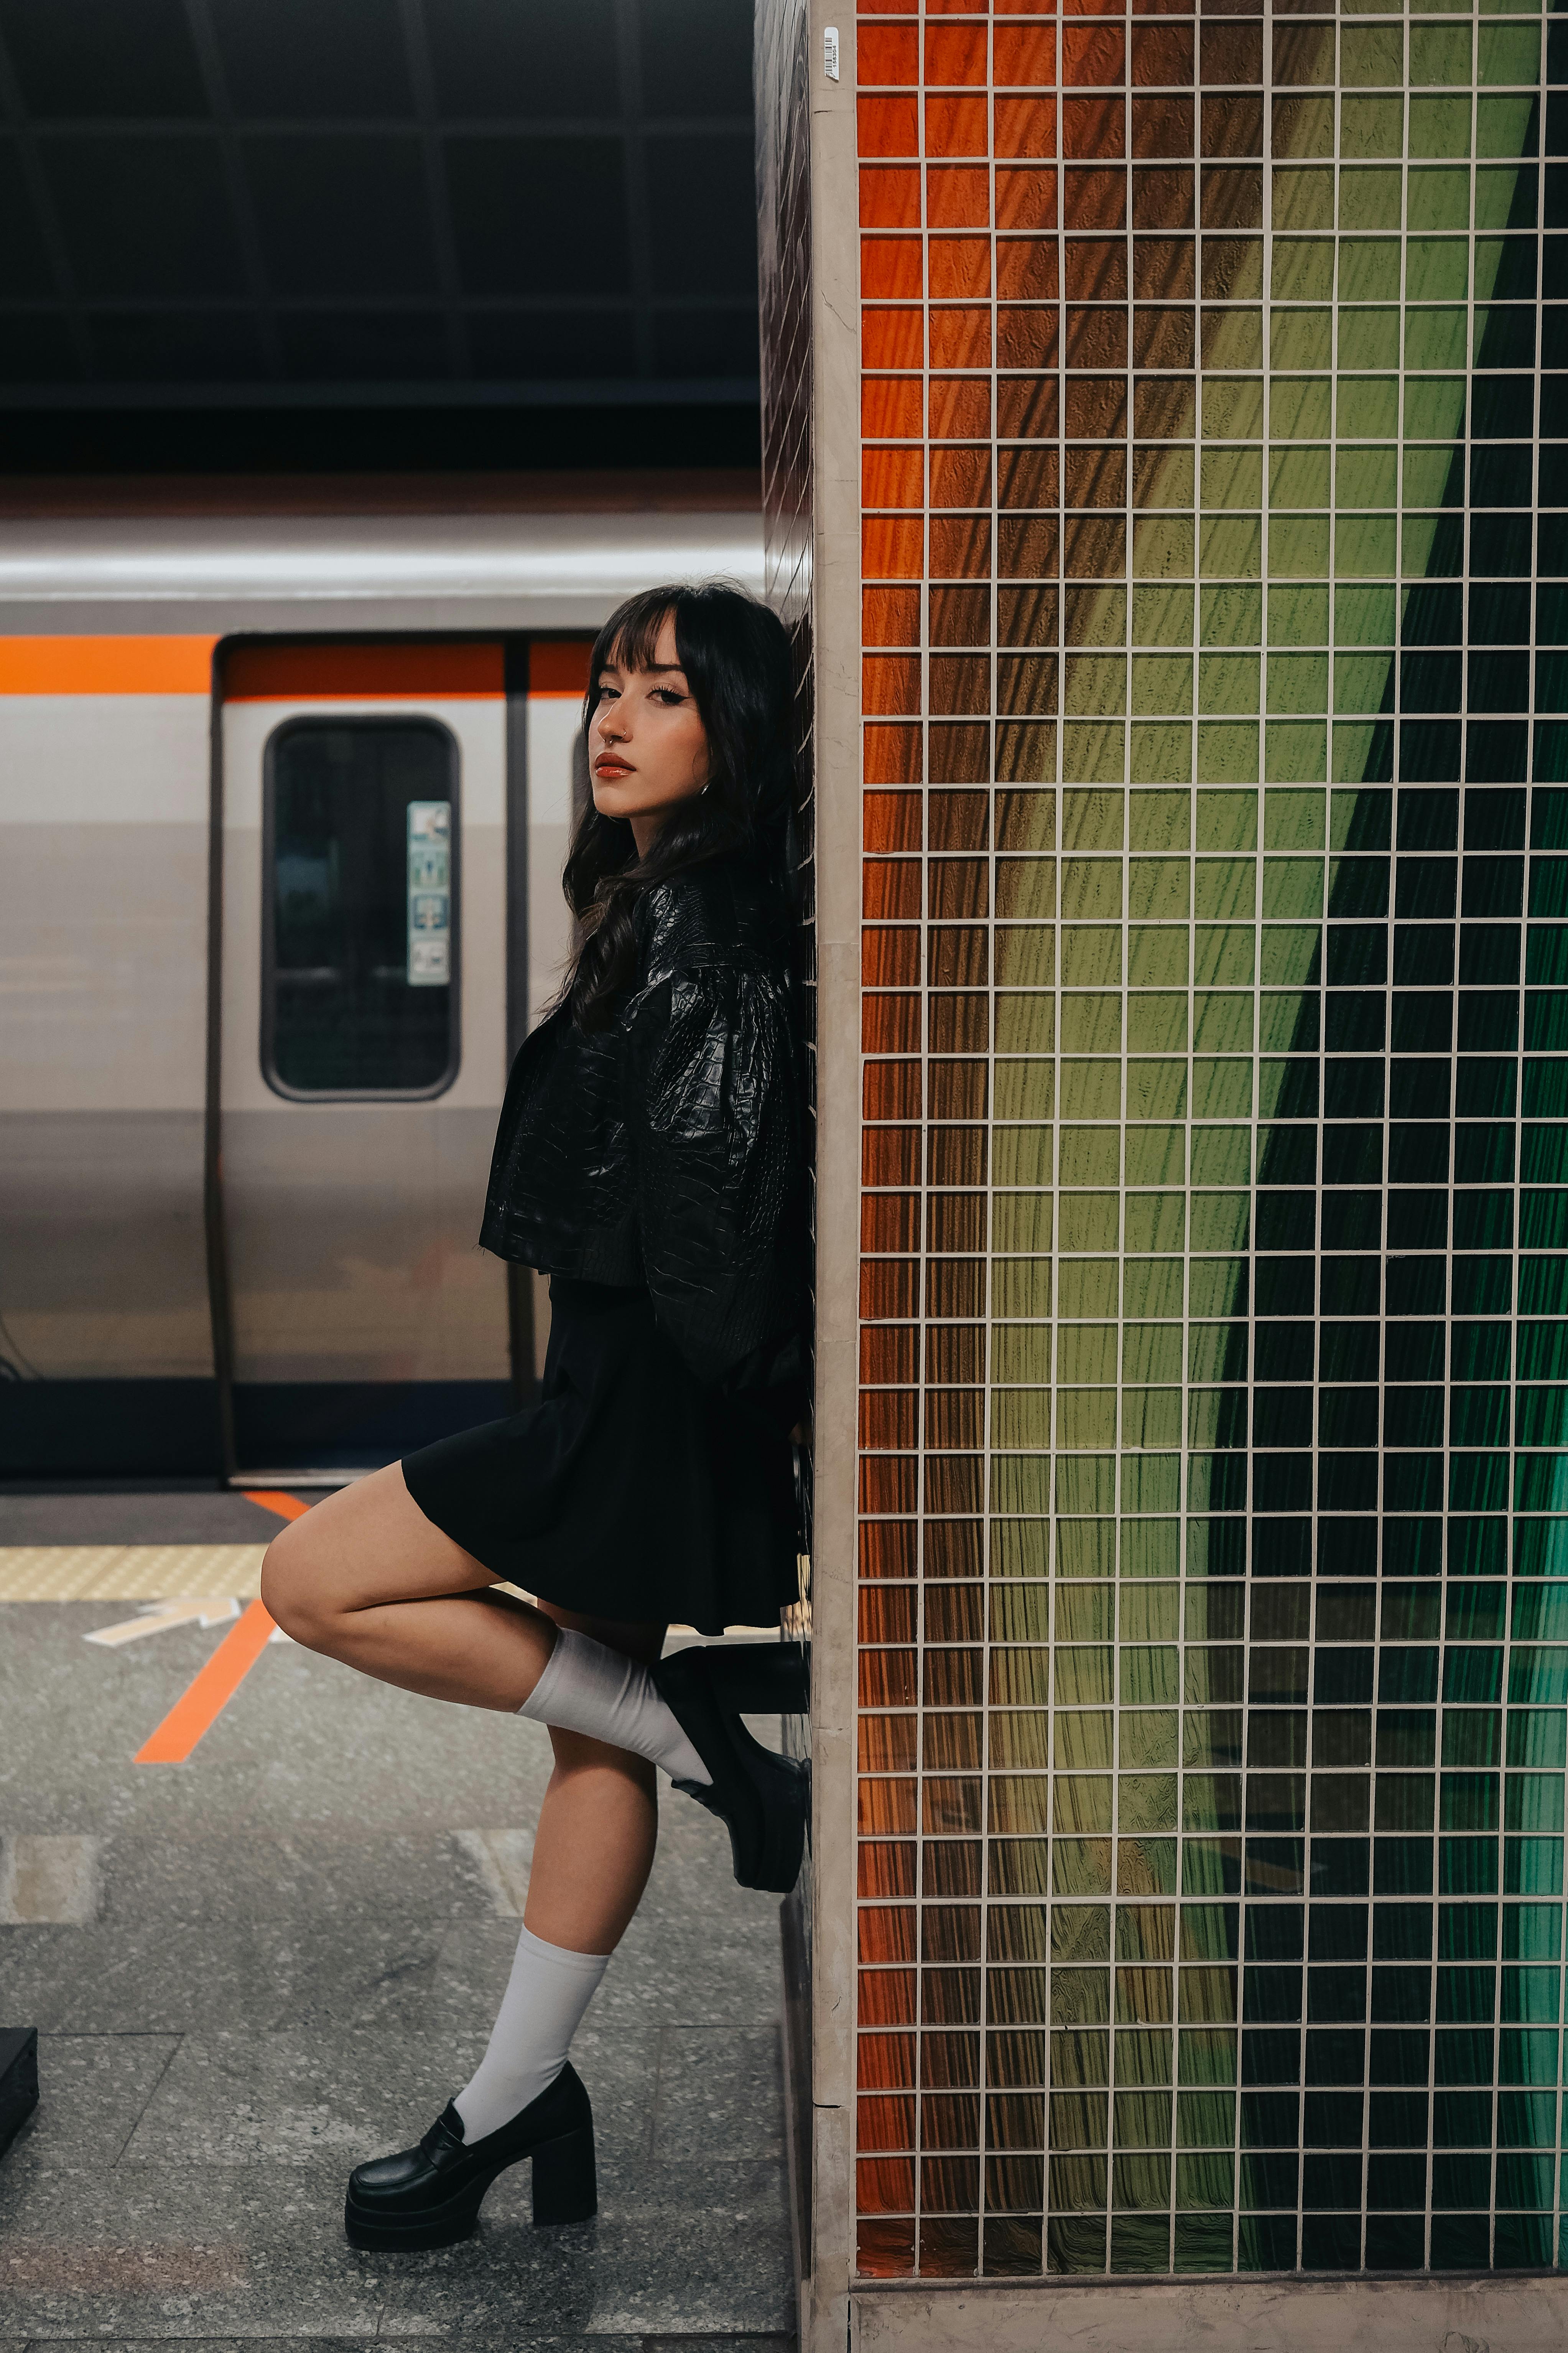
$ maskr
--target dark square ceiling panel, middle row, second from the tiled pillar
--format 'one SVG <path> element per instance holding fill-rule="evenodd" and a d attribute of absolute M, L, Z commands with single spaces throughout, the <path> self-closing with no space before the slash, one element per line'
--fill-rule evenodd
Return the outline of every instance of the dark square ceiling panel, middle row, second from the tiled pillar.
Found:
<path fill-rule="evenodd" d="M 465 294 L 621 294 L 625 155 L 618 139 L 447 139 Z"/>

